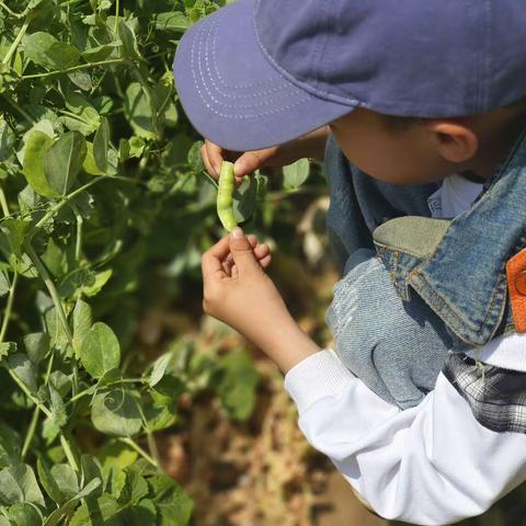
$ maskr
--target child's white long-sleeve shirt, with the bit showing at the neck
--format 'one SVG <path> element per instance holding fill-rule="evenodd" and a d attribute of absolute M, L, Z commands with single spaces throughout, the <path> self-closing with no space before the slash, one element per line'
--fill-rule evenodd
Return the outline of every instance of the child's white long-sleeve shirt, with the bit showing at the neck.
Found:
<path fill-rule="evenodd" d="M 451 175 L 430 209 L 454 217 L 480 191 Z M 434 390 L 403 411 L 331 348 L 296 364 L 284 387 L 309 443 L 385 518 L 451 524 L 483 513 L 526 480 L 526 334 L 450 354 Z"/>

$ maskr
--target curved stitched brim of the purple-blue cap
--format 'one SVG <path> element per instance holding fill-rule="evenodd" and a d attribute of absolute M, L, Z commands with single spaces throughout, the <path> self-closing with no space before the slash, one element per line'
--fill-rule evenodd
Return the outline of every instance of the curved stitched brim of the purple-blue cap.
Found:
<path fill-rule="evenodd" d="M 222 148 L 248 151 L 299 137 L 353 111 L 298 88 L 266 58 L 254 0 L 237 0 L 191 26 L 173 64 L 193 126 Z"/>

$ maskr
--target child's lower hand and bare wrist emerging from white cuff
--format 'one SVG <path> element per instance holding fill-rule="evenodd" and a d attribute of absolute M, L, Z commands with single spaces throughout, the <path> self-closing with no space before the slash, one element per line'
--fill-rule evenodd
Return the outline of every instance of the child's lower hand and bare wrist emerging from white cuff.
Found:
<path fill-rule="evenodd" d="M 264 268 L 271 262 L 265 244 L 244 237 L 238 227 L 203 254 L 203 309 L 228 323 L 288 371 L 320 351 L 294 321 Z M 255 248 L 254 248 L 255 247 Z"/>

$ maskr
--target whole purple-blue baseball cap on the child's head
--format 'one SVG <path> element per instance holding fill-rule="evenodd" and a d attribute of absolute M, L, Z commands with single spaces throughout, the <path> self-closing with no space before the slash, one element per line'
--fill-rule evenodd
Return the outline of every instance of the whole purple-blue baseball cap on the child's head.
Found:
<path fill-rule="evenodd" d="M 524 0 L 237 0 L 175 54 L 194 127 L 224 148 L 286 142 L 355 107 L 482 113 L 526 94 Z"/>

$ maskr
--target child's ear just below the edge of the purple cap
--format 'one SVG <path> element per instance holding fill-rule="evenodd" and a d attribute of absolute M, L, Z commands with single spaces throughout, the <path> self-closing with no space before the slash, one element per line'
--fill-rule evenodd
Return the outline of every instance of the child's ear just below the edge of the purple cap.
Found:
<path fill-rule="evenodd" d="M 472 129 L 456 121 L 431 121 L 427 129 L 432 134 L 437 152 L 449 162 L 466 162 L 477 153 L 479 139 Z"/>

